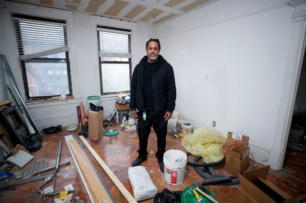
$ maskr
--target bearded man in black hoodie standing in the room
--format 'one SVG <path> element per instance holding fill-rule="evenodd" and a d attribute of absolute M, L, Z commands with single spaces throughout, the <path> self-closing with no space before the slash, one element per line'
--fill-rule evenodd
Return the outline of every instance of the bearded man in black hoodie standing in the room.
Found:
<path fill-rule="evenodd" d="M 148 137 L 153 130 L 157 137 L 155 154 L 159 169 L 164 172 L 163 155 L 166 148 L 168 120 L 175 108 L 176 87 L 172 66 L 161 56 L 158 39 L 146 43 L 145 56 L 134 69 L 131 82 L 130 109 L 133 118 L 138 116 L 139 153 L 132 166 L 147 160 Z M 136 111 L 138 110 L 138 113 Z"/>

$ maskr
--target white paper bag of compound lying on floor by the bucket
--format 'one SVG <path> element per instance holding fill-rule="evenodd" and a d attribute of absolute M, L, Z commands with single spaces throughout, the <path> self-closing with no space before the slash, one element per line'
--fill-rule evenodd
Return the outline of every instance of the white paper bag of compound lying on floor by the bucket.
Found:
<path fill-rule="evenodd" d="M 128 174 L 136 201 L 142 201 L 155 197 L 155 194 L 157 194 L 157 188 L 152 182 L 145 167 L 129 167 Z"/>

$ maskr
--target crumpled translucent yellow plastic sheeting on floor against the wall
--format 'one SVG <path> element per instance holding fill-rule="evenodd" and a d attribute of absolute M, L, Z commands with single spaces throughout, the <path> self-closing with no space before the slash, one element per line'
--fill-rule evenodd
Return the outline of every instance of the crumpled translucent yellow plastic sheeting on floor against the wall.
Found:
<path fill-rule="evenodd" d="M 181 145 L 193 156 L 201 156 L 204 163 L 214 163 L 224 158 L 225 154 L 219 150 L 225 142 L 226 137 L 221 133 L 198 128 L 182 138 Z"/>

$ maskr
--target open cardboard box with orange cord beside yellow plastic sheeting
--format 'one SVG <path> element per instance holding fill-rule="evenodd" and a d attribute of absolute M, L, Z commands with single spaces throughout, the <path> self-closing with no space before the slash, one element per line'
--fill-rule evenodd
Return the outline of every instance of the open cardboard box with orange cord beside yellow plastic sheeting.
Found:
<path fill-rule="evenodd" d="M 242 174 L 248 169 L 248 151 L 250 151 L 250 147 L 248 147 L 248 136 L 228 132 L 227 143 L 236 142 L 237 140 L 242 140 L 243 143 L 238 146 L 232 145 L 230 148 L 225 149 L 225 171 L 238 177 L 238 174 Z"/>

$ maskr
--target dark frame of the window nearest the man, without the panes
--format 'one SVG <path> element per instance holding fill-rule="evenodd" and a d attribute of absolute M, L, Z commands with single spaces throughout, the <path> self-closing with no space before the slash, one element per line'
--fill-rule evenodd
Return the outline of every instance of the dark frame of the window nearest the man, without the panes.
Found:
<path fill-rule="evenodd" d="M 116 33 L 116 31 L 126 31 L 126 32 L 130 32 L 129 34 L 129 41 L 131 44 L 131 52 L 129 53 L 129 56 L 122 56 L 122 55 L 118 55 L 118 56 L 99 56 L 99 32 L 97 32 L 97 40 L 98 40 L 98 59 L 99 59 L 99 76 L 100 76 L 100 90 L 101 90 L 101 95 L 111 95 L 111 94 L 116 94 L 116 92 L 103 92 L 103 79 L 102 79 L 102 63 L 113 63 L 113 64 L 129 64 L 129 86 L 131 89 L 131 80 L 132 80 L 132 30 L 130 29 L 121 29 L 121 28 L 115 28 L 115 27 L 107 27 L 107 26 L 99 26 L 97 25 L 97 31 L 98 28 L 102 28 L 102 29 L 108 29 L 108 30 L 112 30 L 114 33 Z M 118 32 L 120 33 L 120 32 Z M 103 59 L 108 58 L 108 57 L 113 57 L 113 58 L 128 58 L 129 61 L 102 61 L 101 58 L 103 57 Z M 122 90 L 123 91 L 123 90 Z M 129 91 L 124 90 L 126 93 L 129 93 Z"/>

